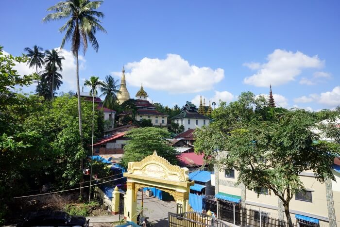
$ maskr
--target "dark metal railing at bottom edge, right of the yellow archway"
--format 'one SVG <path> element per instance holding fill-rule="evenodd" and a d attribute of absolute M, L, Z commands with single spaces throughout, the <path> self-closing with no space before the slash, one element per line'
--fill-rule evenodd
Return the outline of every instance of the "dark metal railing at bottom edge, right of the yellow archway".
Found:
<path fill-rule="evenodd" d="M 169 227 L 228 227 L 228 225 L 204 213 L 169 212 Z"/>

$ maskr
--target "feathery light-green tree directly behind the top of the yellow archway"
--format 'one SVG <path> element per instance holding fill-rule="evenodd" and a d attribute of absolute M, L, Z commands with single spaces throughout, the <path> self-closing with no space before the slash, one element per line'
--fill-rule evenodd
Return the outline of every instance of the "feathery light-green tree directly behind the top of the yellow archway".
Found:
<path fill-rule="evenodd" d="M 130 140 L 124 146 L 124 155 L 121 160 L 123 166 L 127 167 L 129 162 L 141 161 L 145 157 L 152 155 L 154 150 L 170 163 L 177 163 L 176 150 L 170 146 L 169 141 L 166 139 L 170 137 L 167 129 L 138 128 L 128 131 L 125 136 Z"/>

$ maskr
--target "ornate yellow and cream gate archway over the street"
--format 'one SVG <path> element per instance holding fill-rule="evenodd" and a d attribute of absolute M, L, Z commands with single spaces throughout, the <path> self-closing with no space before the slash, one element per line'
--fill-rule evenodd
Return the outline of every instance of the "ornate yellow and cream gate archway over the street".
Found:
<path fill-rule="evenodd" d="M 127 191 L 124 196 L 124 218 L 136 222 L 137 192 L 140 188 L 155 187 L 168 192 L 180 204 L 182 211 L 188 211 L 190 186 L 194 181 L 189 181 L 188 168 L 172 165 L 166 159 L 157 155 L 144 158 L 140 162 L 129 162 L 127 172 Z"/>

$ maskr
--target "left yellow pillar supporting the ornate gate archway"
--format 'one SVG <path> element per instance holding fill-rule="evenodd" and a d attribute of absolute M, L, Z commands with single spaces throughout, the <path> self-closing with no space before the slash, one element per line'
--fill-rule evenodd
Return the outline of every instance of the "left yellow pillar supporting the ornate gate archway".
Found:
<path fill-rule="evenodd" d="M 135 199 L 135 182 L 126 182 L 126 195 L 124 196 L 124 218 L 127 221 L 137 223 L 136 207 L 137 201 Z"/>

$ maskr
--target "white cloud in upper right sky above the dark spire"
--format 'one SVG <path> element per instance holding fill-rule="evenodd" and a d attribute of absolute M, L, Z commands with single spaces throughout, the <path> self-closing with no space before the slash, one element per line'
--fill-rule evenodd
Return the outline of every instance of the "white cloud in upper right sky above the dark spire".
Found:
<path fill-rule="evenodd" d="M 275 49 L 267 60 L 254 75 L 246 77 L 244 83 L 257 87 L 278 86 L 294 81 L 304 68 L 321 68 L 324 65 L 317 55 L 309 57 L 299 51 L 293 53 L 282 49 Z"/>

